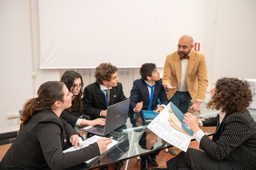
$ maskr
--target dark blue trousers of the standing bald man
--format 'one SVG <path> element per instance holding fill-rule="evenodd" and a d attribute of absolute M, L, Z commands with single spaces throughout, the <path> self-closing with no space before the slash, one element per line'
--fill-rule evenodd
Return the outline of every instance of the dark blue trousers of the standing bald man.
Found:
<path fill-rule="evenodd" d="M 189 95 L 189 92 L 175 92 L 173 97 L 169 100 L 171 101 L 177 108 L 182 111 L 183 114 L 186 114 L 188 112 L 188 105 L 190 104 L 191 97 Z"/>

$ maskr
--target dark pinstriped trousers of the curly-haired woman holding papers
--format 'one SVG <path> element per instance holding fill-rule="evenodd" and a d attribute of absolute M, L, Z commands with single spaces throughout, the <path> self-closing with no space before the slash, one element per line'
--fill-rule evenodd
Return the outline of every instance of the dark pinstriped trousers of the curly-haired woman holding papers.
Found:
<path fill-rule="evenodd" d="M 174 158 L 168 160 L 167 169 L 219 170 L 220 166 L 209 154 L 201 150 L 188 148 L 187 152 L 182 151 Z"/>

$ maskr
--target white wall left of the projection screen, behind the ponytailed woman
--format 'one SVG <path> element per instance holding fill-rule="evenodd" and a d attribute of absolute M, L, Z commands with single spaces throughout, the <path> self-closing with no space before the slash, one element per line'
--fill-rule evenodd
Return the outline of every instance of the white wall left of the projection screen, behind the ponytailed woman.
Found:
<path fill-rule="evenodd" d="M 59 70 L 39 70 L 38 1 L 0 0 L 0 133 L 17 131 L 8 125 L 38 87 L 59 80 Z M 30 10 L 31 9 L 31 10 Z M 33 16 L 33 18 L 31 17 Z M 32 78 L 32 73 L 35 78 Z"/>

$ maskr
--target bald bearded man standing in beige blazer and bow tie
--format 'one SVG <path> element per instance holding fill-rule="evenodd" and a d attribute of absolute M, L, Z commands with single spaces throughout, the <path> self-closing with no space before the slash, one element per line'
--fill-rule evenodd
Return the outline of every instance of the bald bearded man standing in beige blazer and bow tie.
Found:
<path fill-rule="evenodd" d="M 193 99 L 194 110 L 201 109 L 208 86 L 205 56 L 193 50 L 193 37 L 183 35 L 177 44 L 177 52 L 169 54 L 165 60 L 162 85 L 167 97 L 182 113 L 188 112 Z"/>

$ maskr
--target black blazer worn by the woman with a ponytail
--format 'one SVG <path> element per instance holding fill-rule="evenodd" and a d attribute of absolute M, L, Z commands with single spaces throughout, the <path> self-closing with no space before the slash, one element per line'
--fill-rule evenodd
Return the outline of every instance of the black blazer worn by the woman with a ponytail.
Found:
<path fill-rule="evenodd" d="M 78 133 L 70 124 L 51 110 L 41 110 L 20 131 L 0 169 L 66 169 L 100 155 L 97 143 L 63 153 L 71 135 Z"/>

